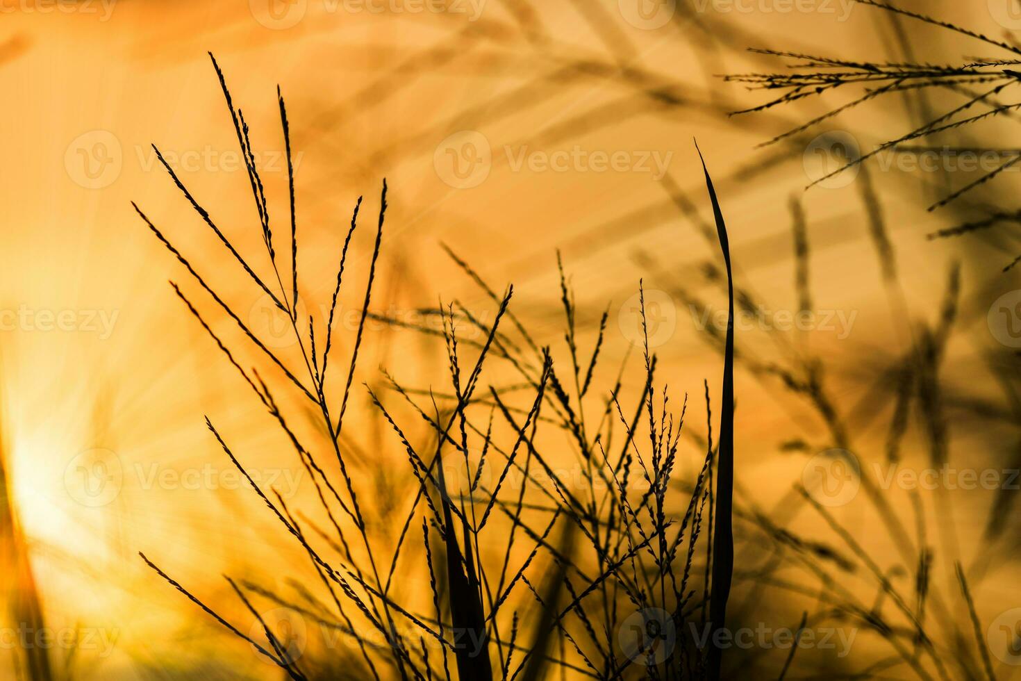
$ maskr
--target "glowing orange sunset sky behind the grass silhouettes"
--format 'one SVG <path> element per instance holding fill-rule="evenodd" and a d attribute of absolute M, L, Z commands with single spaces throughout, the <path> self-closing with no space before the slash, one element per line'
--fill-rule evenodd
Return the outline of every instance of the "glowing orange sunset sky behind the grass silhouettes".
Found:
<path fill-rule="evenodd" d="M 254 265 L 265 267 L 237 140 L 207 51 L 251 126 L 270 212 L 282 230 L 287 175 L 278 84 L 287 100 L 299 286 L 317 324 L 329 303 L 350 210 L 364 195 L 371 225 L 385 177 L 390 208 L 374 309 L 417 320 L 417 307 L 458 299 L 491 322 L 494 306 L 445 254 L 441 244 L 447 244 L 495 287 L 513 283 L 518 314 L 542 342 L 563 345 L 560 249 L 584 313 L 579 322 L 586 347 L 609 305 L 600 379 L 612 384 L 620 362 L 634 352 L 637 321 L 629 315 L 629 299 L 642 279 L 646 291 L 663 292 L 657 300 L 666 327 L 655 347 L 662 376 L 678 406 L 689 395 L 685 428 L 703 437 L 702 381 L 719 390 L 720 356 L 678 291 L 716 309 L 726 299 L 703 269 L 720 262 L 698 227 L 711 213 L 692 143 L 697 138 L 726 211 L 739 285 L 772 310 L 797 310 L 789 208 L 795 196 L 808 218 L 813 302 L 833 312 L 834 328 L 784 332 L 787 344 L 772 332 L 739 330 L 738 350 L 763 361 L 809 349 L 822 357 L 858 452 L 863 460 L 878 460 L 885 432 L 873 415 L 887 415 L 892 405 L 871 388 L 884 361 L 905 351 L 918 323 L 938 317 L 946 271 L 957 259 L 964 312 L 947 350 L 953 360 L 940 376 L 956 387 L 946 397 L 951 460 L 975 469 L 1010 466 L 1004 457 L 1016 446 L 1016 428 L 969 421 L 958 406 L 967 398 L 1010 408 L 987 366 L 1005 348 L 990 335 L 986 312 L 1001 294 L 1018 288 L 1016 272 L 1000 273 L 1006 262 L 999 250 L 1005 243 L 1017 250 L 1017 239 L 927 241 L 926 234 L 959 222 L 952 213 L 924 210 L 942 180 L 870 166 L 902 280 L 905 300 L 892 300 L 870 241 L 863 180 L 803 193 L 806 167 L 811 177 L 815 162 L 805 153 L 806 140 L 814 135 L 756 148 L 826 109 L 814 102 L 728 117 L 727 111 L 766 98 L 716 78 L 763 68 L 743 52 L 759 43 L 885 59 L 893 44 L 886 18 L 855 6 L 841 21 L 844 5 L 838 2 L 832 3 L 836 14 L 767 12 L 762 5 L 773 3 L 762 0 L 741 5 L 749 11 L 710 3 L 695 11 L 697 21 L 675 18 L 643 29 L 620 9 L 627 2 L 599 0 L 593 13 L 578 4 L 466 0 L 464 12 L 416 12 L 393 0 L 372 5 L 384 7 L 377 13 L 367 5 L 322 0 L 0 0 L 3 460 L 47 625 L 57 635 L 78 631 L 83 637 L 78 646 L 54 646 L 55 669 L 76 679 L 283 678 L 160 581 L 139 560 L 140 550 L 245 631 L 252 619 L 232 599 L 223 574 L 268 587 L 283 586 L 289 577 L 308 584 L 313 579 L 305 556 L 233 474 L 203 417 L 294 507 L 310 507 L 313 490 L 167 280 L 195 294 L 217 333 L 235 347 L 245 345 L 131 205 L 138 203 L 253 327 L 277 339 L 274 347 L 283 356 L 296 358 L 275 326 L 280 320 L 242 281 L 149 146 L 160 148 Z M 938 5 L 944 18 L 990 34 L 1004 30 L 984 2 L 928 4 Z M 716 38 L 709 40 L 699 23 Z M 955 57 L 981 50 L 929 28 L 905 30 L 925 55 L 919 59 L 938 61 L 940 49 Z M 850 131 L 871 148 L 891 131 L 909 130 L 908 119 L 903 109 L 872 106 L 830 128 Z M 1004 130 L 998 126 L 1003 124 L 982 130 L 995 139 Z M 484 146 L 484 177 L 454 172 L 454 162 L 474 167 Z M 1013 180 L 998 182 L 985 199 L 1009 195 Z M 678 192 L 697 215 L 685 213 L 675 200 Z M 359 307 L 372 237 L 366 229 L 354 239 L 348 272 L 357 284 L 345 293 L 344 310 Z M 278 379 L 250 350 L 242 350 L 242 363 Z M 435 343 L 377 325 L 368 332 L 355 385 L 382 384 L 377 367 L 385 364 L 405 385 L 439 390 L 447 386 L 441 362 Z M 631 401 L 642 378 L 625 375 Z M 812 454 L 829 445 L 826 431 L 816 411 L 776 380 L 739 371 L 737 394 L 741 498 L 746 507 L 783 517 L 791 485 L 801 480 Z M 284 391 L 283 397 L 301 422 L 296 394 Z M 392 433 L 370 419 L 363 389 L 351 409 L 351 427 L 363 433 L 351 446 L 360 446 L 381 476 L 399 477 L 406 458 Z M 312 428 L 307 421 L 301 427 Z M 785 451 L 782 445 L 793 440 L 808 449 Z M 377 449 L 378 443 L 385 447 Z M 680 476 L 697 470 L 699 446 L 696 437 L 686 440 Z M 903 455 L 906 466 L 924 468 L 922 438 L 909 436 Z M 358 483 L 371 489 L 374 481 L 367 475 Z M 889 492 L 914 537 L 912 497 L 903 489 Z M 972 592 L 983 622 L 1021 606 L 1016 528 L 995 545 L 982 543 L 991 496 L 954 490 L 923 493 L 919 502 L 936 547 L 940 587 L 956 593 L 953 556 L 959 555 L 977 570 Z M 896 542 L 881 531 L 872 507 L 858 499 L 832 510 L 872 555 L 893 562 Z M 825 523 L 805 506 L 786 524 L 826 536 Z M 759 563 L 738 551 L 738 570 Z M 847 587 L 871 602 L 876 592 L 866 577 L 866 571 L 848 576 Z M 910 591 L 909 576 L 891 579 Z M 801 605 L 782 592 L 771 597 L 776 602 L 756 606 L 771 613 L 762 617 L 793 626 Z M 946 609 L 947 617 L 967 618 L 960 602 Z M 868 652 L 852 667 L 888 654 L 873 652 L 881 649 L 874 635 L 861 636 L 858 645 Z M 0 649 L 0 678 L 15 678 L 16 660 L 10 646 Z M 1012 678 L 1016 669 L 998 663 L 998 678 Z M 908 669 L 891 670 L 887 678 L 902 677 L 914 678 Z"/>

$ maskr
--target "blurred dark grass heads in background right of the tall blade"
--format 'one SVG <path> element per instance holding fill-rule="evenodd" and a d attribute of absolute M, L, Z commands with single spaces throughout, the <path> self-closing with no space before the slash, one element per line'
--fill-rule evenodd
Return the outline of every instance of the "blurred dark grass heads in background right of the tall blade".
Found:
<path fill-rule="evenodd" d="M 902 283 L 896 275 L 897 254 L 888 238 L 881 204 L 869 183 L 863 183 L 861 190 L 871 222 L 877 264 L 885 273 L 891 312 L 898 320 L 911 320 L 912 313 L 904 301 Z M 805 300 L 813 299 L 805 284 L 811 269 L 812 250 L 811 239 L 803 225 L 806 215 L 796 202 L 794 205 L 793 289 L 798 304 L 803 305 Z M 642 263 L 653 273 L 659 270 L 650 257 L 643 257 Z M 707 262 L 702 270 L 708 283 L 723 290 L 729 288 L 728 280 L 715 263 Z M 662 281 L 671 278 L 664 272 L 657 276 Z M 669 289 L 671 294 L 691 305 L 694 314 L 701 313 L 707 303 L 690 292 L 689 278 L 675 276 L 674 280 L 677 283 Z M 735 301 L 743 310 L 777 308 L 740 278 L 734 287 Z M 870 386 L 850 403 L 837 398 L 833 385 L 836 378 L 847 372 L 847 367 L 833 359 L 824 363 L 823 357 L 816 356 L 806 339 L 797 334 L 768 331 L 761 336 L 761 343 L 749 336 L 736 353 L 735 363 L 749 377 L 765 384 L 778 402 L 790 396 L 811 405 L 824 428 L 822 437 L 809 428 L 809 434 L 790 436 L 778 443 L 778 448 L 791 454 L 811 454 L 836 446 L 857 452 L 863 463 L 868 463 L 875 459 L 859 444 L 862 438 L 858 434 L 880 427 L 885 430 L 885 442 L 881 442 L 884 447 L 880 447 L 880 452 L 887 463 L 906 460 L 906 450 L 916 445 L 934 467 L 950 460 L 952 419 L 947 405 L 966 401 L 966 398 L 962 388 L 942 379 L 940 373 L 946 361 L 946 345 L 960 321 L 960 275 L 957 265 L 952 263 L 946 274 L 943 302 L 931 314 L 934 319 L 911 322 L 913 333 L 908 334 L 911 341 L 907 351 L 877 356 L 864 367 L 852 362 L 855 364 L 849 368 L 852 374 L 864 373 Z M 725 338 L 719 329 L 707 327 L 706 340 L 721 355 L 725 353 Z M 778 351 L 770 352 L 768 348 Z M 970 410 L 972 407 L 965 408 Z M 885 423 L 881 420 L 883 417 Z M 740 557 L 736 563 L 749 567 L 736 569 L 734 577 L 739 584 L 746 585 L 751 580 L 755 586 L 742 589 L 736 602 L 732 602 L 728 620 L 740 622 L 755 617 L 749 610 L 767 592 L 776 591 L 783 597 L 796 598 L 813 593 L 818 586 L 825 595 L 807 614 L 810 626 L 826 622 L 855 626 L 889 645 L 892 655 L 885 660 L 862 655 L 861 661 L 853 655 L 847 669 L 820 666 L 817 674 L 868 678 L 906 665 L 918 678 L 984 677 L 983 661 L 989 656 L 989 649 L 984 634 L 976 638 L 975 630 L 987 626 L 988 616 L 983 618 L 977 612 L 965 587 L 988 571 L 988 564 L 995 555 L 992 547 L 996 535 L 986 535 L 989 551 L 976 554 L 960 594 L 957 590 L 944 590 L 940 588 L 941 580 L 934 580 L 933 574 L 942 577 L 945 573 L 941 566 L 961 560 L 953 529 L 949 529 L 953 528 L 949 518 L 953 516 L 953 504 L 945 492 L 934 494 L 939 531 L 943 535 L 939 538 L 942 546 L 937 548 L 933 545 L 919 493 L 909 495 L 911 507 L 907 514 L 901 514 L 893 504 L 903 499 L 897 498 L 895 490 L 882 489 L 864 466 L 860 482 L 865 492 L 862 503 L 871 505 L 879 520 L 878 527 L 869 528 L 864 534 L 841 525 L 799 483 L 771 508 L 759 506 L 753 490 L 735 488 L 733 518 L 741 528 L 736 546 Z M 1004 499 L 1010 497 L 1009 491 L 999 490 L 993 504 L 1009 503 Z M 823 539 L 810 539 L 789 527 L 806 505 L 827 524 L 828 534 Z M 990 513 L 989 522 L 993 519 Z M 1003 524 L 996 527 L 996 532 L 1004 532 Z M 873 555 L 863 546 L 860 537 L 867 539 L 870 533 L 879 531 L 892 538 L 894 555 Z M 986 529 L 988 532 L 990 530 Z M 758 560 L 756 556 L 767 557 Z M 908 576 L 910 580 L 898 584 L 895 578 L 898 575 Z M 882 597 L 875 602 L 863 598 L 862 589 L 867 587 L 862 584 L 865 583 L 871 583 Z M 963 596 L 963 600 L 955 600 L 958 595 Z M 961 605 L 965 607 L 964 619 L 958 613 Z M 974 624 L 976 621 L 978 625 Z M 856 663 L 859 671 L 853 667 Z M 796 667 L 797 661 L 793 664 Z M 864 672 L 860 671 L 863 667 Z"/>

